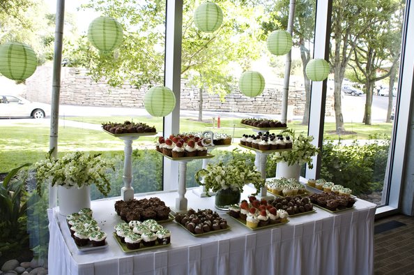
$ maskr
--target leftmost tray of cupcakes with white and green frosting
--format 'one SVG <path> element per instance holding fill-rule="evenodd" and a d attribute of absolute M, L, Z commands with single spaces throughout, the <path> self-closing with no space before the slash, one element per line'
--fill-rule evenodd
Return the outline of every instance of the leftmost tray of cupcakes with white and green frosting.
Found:
<path fill-rule="evenodd" d="M 107 234 L 100 230 L 98 222 L 92 217 L 92 210 L 81 209 L 78 213 L 66 216 L 66 222 L 70 230 L 70 236 L 75 241 L 79 251 L 91 250 L 91 248 L 106 247 Z"/>

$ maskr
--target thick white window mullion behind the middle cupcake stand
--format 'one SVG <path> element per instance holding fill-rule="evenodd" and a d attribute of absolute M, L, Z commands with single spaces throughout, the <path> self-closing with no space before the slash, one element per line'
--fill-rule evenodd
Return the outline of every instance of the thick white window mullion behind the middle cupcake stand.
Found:
<path fill-rule="evenodd" d="M 169 87 L 176 96 L 176 107 L 171 114 L 164 117 L 163 135 L 169 136 L 180 131 L 183 0 L 167 0 L 166 17 L 164 86 Z M 178 163 L 164 158 L 162 177 L 164 190 L 178 188 Z"/>

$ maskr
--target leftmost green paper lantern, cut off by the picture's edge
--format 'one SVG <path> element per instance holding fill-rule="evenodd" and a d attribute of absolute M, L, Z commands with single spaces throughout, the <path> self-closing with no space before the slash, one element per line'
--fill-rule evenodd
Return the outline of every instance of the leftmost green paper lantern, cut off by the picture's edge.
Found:
<path fill-rule="evenodd" d="M 0 73 L 10 80 L 29 78 L 37 66 L 36 53 L 29 45 L 18 42 L 0 45 Z"/>

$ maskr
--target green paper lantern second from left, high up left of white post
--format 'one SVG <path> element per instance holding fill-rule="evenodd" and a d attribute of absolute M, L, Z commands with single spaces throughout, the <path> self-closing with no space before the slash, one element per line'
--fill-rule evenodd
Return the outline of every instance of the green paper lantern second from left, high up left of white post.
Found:
<path fill-rule="evenodd" d="M 122 44 L 123 29 L 112 17 L 97 17 L 89 24 L 88 38 L 98 50 L 110 52 Z"/>

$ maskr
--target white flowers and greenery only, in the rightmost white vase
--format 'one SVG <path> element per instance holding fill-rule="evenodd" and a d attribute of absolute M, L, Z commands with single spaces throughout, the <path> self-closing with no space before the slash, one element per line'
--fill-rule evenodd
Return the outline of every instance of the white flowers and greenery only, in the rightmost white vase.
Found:
<path fill-rule="evenodd" d="M 311 143 L 312 140 L 314 140 L 314 137 L 312 135 L 307 136 L 302 134 L 295 137 L 295 131 L 291 129 L 285 130 L 282 133 L 289 133 L 289 135 L 293 137 L 293 147 L 289 151 L 282 151 L 273 154 L 273 161 L 284 161 L 289 165 L 302 165 L 307 163 L 309 169 L 312 169 L 314 167 L 312 164 L 312 156 L 316 156 L 320 152 L 318 147 Z"/>

